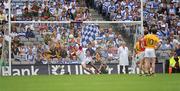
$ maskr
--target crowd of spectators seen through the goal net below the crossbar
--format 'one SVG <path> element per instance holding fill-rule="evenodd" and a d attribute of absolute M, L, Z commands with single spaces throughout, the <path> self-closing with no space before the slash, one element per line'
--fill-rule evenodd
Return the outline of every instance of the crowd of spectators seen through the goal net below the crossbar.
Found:
<path fill-rule="evenodd" d="M 77 48 L 91 50 L 96 59 L 96 53 L 106 62 L 117 61 L 117 49 L 124 42 L 118 30 L 101 28 L 96 24 L 22 24 L 13 32 L 12 59 L 15 63 L 41 64 L 73 64 L 79 63 L 76 55 Z M 91 26 L 89 26 L 91 25 Z M 19 26 L 19 25 L 18 25 Z M 25 27 L 25 28 L 24 28 Z M 85 28 L 86 27 L 86 28 Z M 98 27 L 96 38 L 82 45 L 84 29 Z M 32 36 L 27 36 L 28 34 Z"/>

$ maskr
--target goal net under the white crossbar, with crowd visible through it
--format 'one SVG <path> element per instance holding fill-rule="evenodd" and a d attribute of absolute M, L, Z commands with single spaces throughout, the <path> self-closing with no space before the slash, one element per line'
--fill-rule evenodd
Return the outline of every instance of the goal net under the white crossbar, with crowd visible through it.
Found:
<path fill-rule="evenodd" d="M 134 43 L 143 34 L 141 22 L 135 21 L 12 21 L 11 25 L 11 37 L 4 40 L 2 48 L 2 73 L 6 76 L 31 74 L 29 71 L 15 72 L 14 69 L 21 70 L 20 72 L 27 69 L 28 66 L 23 65 L 36 65 L 36 68 L 41 69 L 41 64 L 79 64 L 73 54 L 77 46 L 91 46 L 94 50 L 102 48 L 109 54 L 105 60 L 107 64 L 119 64 L 117 51 L 123 42 L 129 49 L 129 71 L 133 73 Z M 62 55 L 63 53 L 66 55 Z M 56 74 L 51 68 L 46 73 Z M 115 73 L 118 74 L 119 71 Z"/>

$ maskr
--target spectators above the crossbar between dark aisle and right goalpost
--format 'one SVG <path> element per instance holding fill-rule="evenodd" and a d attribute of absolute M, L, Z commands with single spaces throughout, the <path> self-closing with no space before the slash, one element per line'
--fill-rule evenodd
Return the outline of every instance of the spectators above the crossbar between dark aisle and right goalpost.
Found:
<path fill-rule="evenodd" d="M 140 21 L 140 0 L 94 0 L 95 9 L 106 20 Z"/>

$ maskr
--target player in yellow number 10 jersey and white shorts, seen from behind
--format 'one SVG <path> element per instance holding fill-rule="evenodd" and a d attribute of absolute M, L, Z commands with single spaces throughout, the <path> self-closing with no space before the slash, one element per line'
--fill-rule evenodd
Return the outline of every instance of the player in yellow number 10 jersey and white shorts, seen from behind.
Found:
<path fill-rule="evenodd" d="M 151 34 L 147 34 L 144 36 L 145 41 L 145 73 L 146 74 L 154 74 L 155 73 L 155 62 L 156 62 L 156 54 L 155 50 L 160 46 L 160 40 L 156 35 L 156 29 L 151 30 Z M 152 69 L 151 69 L 152 67 Z"/>

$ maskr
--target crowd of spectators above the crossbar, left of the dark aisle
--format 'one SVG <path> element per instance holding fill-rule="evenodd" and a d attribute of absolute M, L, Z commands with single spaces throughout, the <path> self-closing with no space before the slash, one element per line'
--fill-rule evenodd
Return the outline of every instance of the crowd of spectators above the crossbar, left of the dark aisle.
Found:
<path fill-rule="evenodd" d="M 7 1 L 0 2 L 4 14 L 8 13 Z M 14 21 L 86 21 L 91 19 L 89 9 L 81 7 L 78 0 L 12 0 L 11 2 L 11 18 Z"/>

